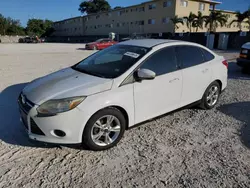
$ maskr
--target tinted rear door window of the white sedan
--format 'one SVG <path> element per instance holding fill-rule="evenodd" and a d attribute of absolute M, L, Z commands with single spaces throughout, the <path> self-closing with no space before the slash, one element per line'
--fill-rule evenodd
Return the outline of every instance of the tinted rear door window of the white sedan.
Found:
<path fill-rule="evenodd" d="M 205 62 L 202 51 L 196 46 L 176 46 L 178 63 L 182 68 L 189 68 Z"/>

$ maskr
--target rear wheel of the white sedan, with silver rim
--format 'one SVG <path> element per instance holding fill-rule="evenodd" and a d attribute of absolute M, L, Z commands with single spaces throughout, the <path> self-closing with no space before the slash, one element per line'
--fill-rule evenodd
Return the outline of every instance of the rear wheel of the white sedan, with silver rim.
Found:
<path fill-rule="evenodd" d="M 211 97 L 210 94 L 211 94 L 212 91 L 215 92 L 215 88 L 217 88 L 216 93 L 214 93 L 214 95 L 212 95 L 213 97 Z M 210 109 L 214 108 L 214 106 L 219 101 L 220 94 L 221 94 L 220 84 L 217 81 L 211 83 L 207 87 L 207 89 L 206 89 L 206 91 L 205 91 L 205 93 L 204 93 L 204 95 L 203 95 L 203 97 L 201 99 L 200 107 L 202 109 L 204 109 L 204 110 L 210 110 Z M 209 96 L 210 96 L 211 99 L 208 99 Z M 215 100 L 215 98 L 216 98 L 216 100 Z"/>

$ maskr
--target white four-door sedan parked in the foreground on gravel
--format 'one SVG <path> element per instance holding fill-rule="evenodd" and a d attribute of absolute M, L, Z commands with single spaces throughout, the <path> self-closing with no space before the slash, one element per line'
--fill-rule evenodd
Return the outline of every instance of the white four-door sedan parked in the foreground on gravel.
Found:
<path fill-rule="evenodd" d="M 125 41 L 28 84 L 18 100 L 22 122 L 33 140 L 108 149 L 140 122 L 192 103 L 213 108 L 227 68 L 199 44 Z"/>

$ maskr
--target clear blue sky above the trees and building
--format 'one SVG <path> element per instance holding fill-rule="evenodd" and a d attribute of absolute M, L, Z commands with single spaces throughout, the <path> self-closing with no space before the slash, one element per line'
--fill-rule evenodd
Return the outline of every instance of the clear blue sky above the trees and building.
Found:
<path fill-rule="evenodd" d="M 80 16 L 79 4 L 83 0 L 0 0 L 0 13 L 5 17 L 19 19 L 26 26 L 30 18 L 50 19 L 58 21 Z M 108 0 L 111 7 L 130 6 L 148 0 Z M 219 9 L 245 11 L 250 6 L 250 0 L 218 0 L 222 5 Z"/>

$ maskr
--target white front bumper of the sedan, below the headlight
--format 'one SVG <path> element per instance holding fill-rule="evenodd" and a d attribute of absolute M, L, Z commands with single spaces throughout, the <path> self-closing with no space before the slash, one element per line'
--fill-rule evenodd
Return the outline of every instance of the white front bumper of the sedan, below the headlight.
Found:
<path fill-rule="evenodd" d="M 20 119 L 30 139 L 55 144 L 79 144 L 82 142 L 86 121 L 78 108 L 55 116 L 39 117 L 36 111 L 37 105 L 27 112 L 20 102 L 18 103 Z M 57 136 L 55 130 L 63 131 L 65 136 Z"/>

